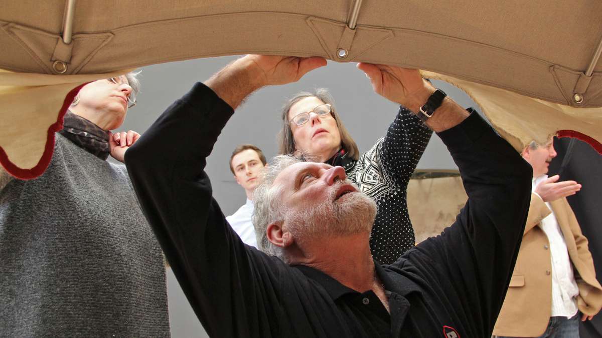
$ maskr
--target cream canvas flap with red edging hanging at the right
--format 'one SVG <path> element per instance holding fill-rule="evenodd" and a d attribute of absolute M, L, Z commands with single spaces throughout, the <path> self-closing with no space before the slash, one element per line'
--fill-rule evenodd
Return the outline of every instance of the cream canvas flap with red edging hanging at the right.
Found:
<path fill-rule="evenodd" d="M 495 130 L 518 152 L 531 141 L 547 143 L 559 131 L 565 131 L 559 136 L 582 138 L 599 153 L 602 152 L 602 108 L 559 105 L 452 76 L 432 72 L 422 74 L 464 90 L 480 106 Z"/>

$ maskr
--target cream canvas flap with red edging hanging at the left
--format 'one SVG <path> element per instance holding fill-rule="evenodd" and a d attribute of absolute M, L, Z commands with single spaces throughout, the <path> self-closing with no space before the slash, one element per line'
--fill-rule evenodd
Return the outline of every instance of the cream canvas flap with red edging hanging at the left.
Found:
<path fill-rule="evenodd" d="M 86 82 L 129 71 L 45 75 L 0 70 L 0 164 L 21 178 L 42 174 L 52 156 L 54 132 L 62 128 L 67 94 Z"/>

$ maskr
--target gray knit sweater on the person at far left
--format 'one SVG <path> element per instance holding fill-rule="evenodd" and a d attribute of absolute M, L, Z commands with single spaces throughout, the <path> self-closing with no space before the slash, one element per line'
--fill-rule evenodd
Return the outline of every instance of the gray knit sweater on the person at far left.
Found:
<path fill-rule="evenodd" d="M 125 166 L 56 139 L 42 176 L 0 190 L 0 336 L 169 336 L 163 257 Z"/>

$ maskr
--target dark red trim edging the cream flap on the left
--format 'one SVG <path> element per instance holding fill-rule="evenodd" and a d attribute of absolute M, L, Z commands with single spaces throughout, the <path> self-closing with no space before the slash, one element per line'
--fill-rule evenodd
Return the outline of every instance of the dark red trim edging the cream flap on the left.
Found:
<path fill-rule="evenodd" d="M 65 96 L 63 106 L 61 106 L 61 110 L 58 111 L 57 121 L 55 123 L 52 123 L 48 128 L 48 136 L 46 137 L 46 146 L 44 147 L 44 153 L 42 154 L 42 158 L 40 158 L 40 161 L 38 161 L 35 167 L 31 169 L 23 169 L 17 167 L 13 164 L 13 162 L 11 162 L 8 159 L 6 152 L 0 146 L 0 164 L 6 169 L 6 171 L 8 171 L 9 174 L 13 175 L 14 177 L 17 177 L 17 179 L 31 180 L 42 175 L 44 171 L 46 171 L 46 168 L 48 168 L 50 160 L 52 159 L 52 153 L 54 152 L 54 133 L 63 129 L 63 117 L 67 113 L 67 108 L 69 108 L 69 105 L 73 102 L 73 98 L 75 98 L 77 93 L 79 93 L 81 87 L 84 87 L 84 85 L 86 84 L 87 83 L 73 88 L 71 91 L 69 91 L 69 93 L 67 93 L 67 96 Z"/>

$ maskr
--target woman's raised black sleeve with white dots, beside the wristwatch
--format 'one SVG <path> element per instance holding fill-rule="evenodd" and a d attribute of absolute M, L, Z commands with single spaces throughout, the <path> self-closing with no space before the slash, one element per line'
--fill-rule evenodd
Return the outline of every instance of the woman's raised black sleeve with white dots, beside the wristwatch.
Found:
<path fill-rule="evenodd" d="M 420 118 L 400 106 L 382 142 L 380 162 L 386 175 L 402 189 L 408 186 L 432 134 Z"/>

